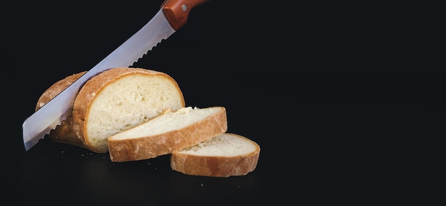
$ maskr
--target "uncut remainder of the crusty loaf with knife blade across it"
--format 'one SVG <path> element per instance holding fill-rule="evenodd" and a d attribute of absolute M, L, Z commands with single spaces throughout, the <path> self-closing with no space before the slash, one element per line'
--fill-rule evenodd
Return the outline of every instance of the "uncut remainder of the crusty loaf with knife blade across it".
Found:
<path fill-rule="evenodd" d="M 56 82 L 43 92 L 36 109 L 64 90 L 83 72 Z M 73 104 L 72 116 L 48 135 L 96 153 L 108 151 L 108 136 L 141 124 L 168 109 L 185 107 L 177 82 L 155 70 L 118 67 L 85 82 Z"/>

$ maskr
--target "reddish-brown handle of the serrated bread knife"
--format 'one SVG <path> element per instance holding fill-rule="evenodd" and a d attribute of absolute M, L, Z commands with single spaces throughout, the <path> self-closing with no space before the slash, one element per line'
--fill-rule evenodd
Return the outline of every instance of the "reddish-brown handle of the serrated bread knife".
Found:
<path fill-rule="evenodd" d="M 209 0 L 165 0 L 161 4 L 162 11 L 175 31 L 185 26 L 190 11 Z"/>

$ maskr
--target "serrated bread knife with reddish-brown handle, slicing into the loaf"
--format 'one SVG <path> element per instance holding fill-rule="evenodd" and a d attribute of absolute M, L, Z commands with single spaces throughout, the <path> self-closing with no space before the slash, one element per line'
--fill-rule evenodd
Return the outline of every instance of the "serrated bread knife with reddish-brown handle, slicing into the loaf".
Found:
<path fill-rule="evenodd" d="M 209 0 L 165 0 L 155 16 L 128 40 L 85 72 L 63 92 L 29 116 L 22 125 L 26 151 L 71 115 L 74 99 L 91 77 L 113 67 L 129 67 L 185 25 L 190 11 Z"/>

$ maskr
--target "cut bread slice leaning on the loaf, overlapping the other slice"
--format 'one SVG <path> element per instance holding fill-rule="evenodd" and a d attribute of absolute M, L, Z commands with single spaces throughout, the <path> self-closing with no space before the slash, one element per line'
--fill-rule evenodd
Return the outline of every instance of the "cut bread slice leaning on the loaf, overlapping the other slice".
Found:
<path fill-rule="evenodd" d="M 224 107 L 184 107 L 108 137 L 110 160 L 139 161 L 193 146 L 227 131 Z"/>

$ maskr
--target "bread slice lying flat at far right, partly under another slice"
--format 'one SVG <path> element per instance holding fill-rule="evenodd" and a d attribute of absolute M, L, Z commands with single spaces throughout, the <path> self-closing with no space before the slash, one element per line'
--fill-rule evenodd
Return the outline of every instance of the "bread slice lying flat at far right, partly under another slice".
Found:
<path fill-rule="evenodd" d="M 260 146 L 256 142 L 238 134 L 224 133 L 173 152 L 170 166 L 187 175 L 239 176 L 255 170 L 259 155 Z"/>

